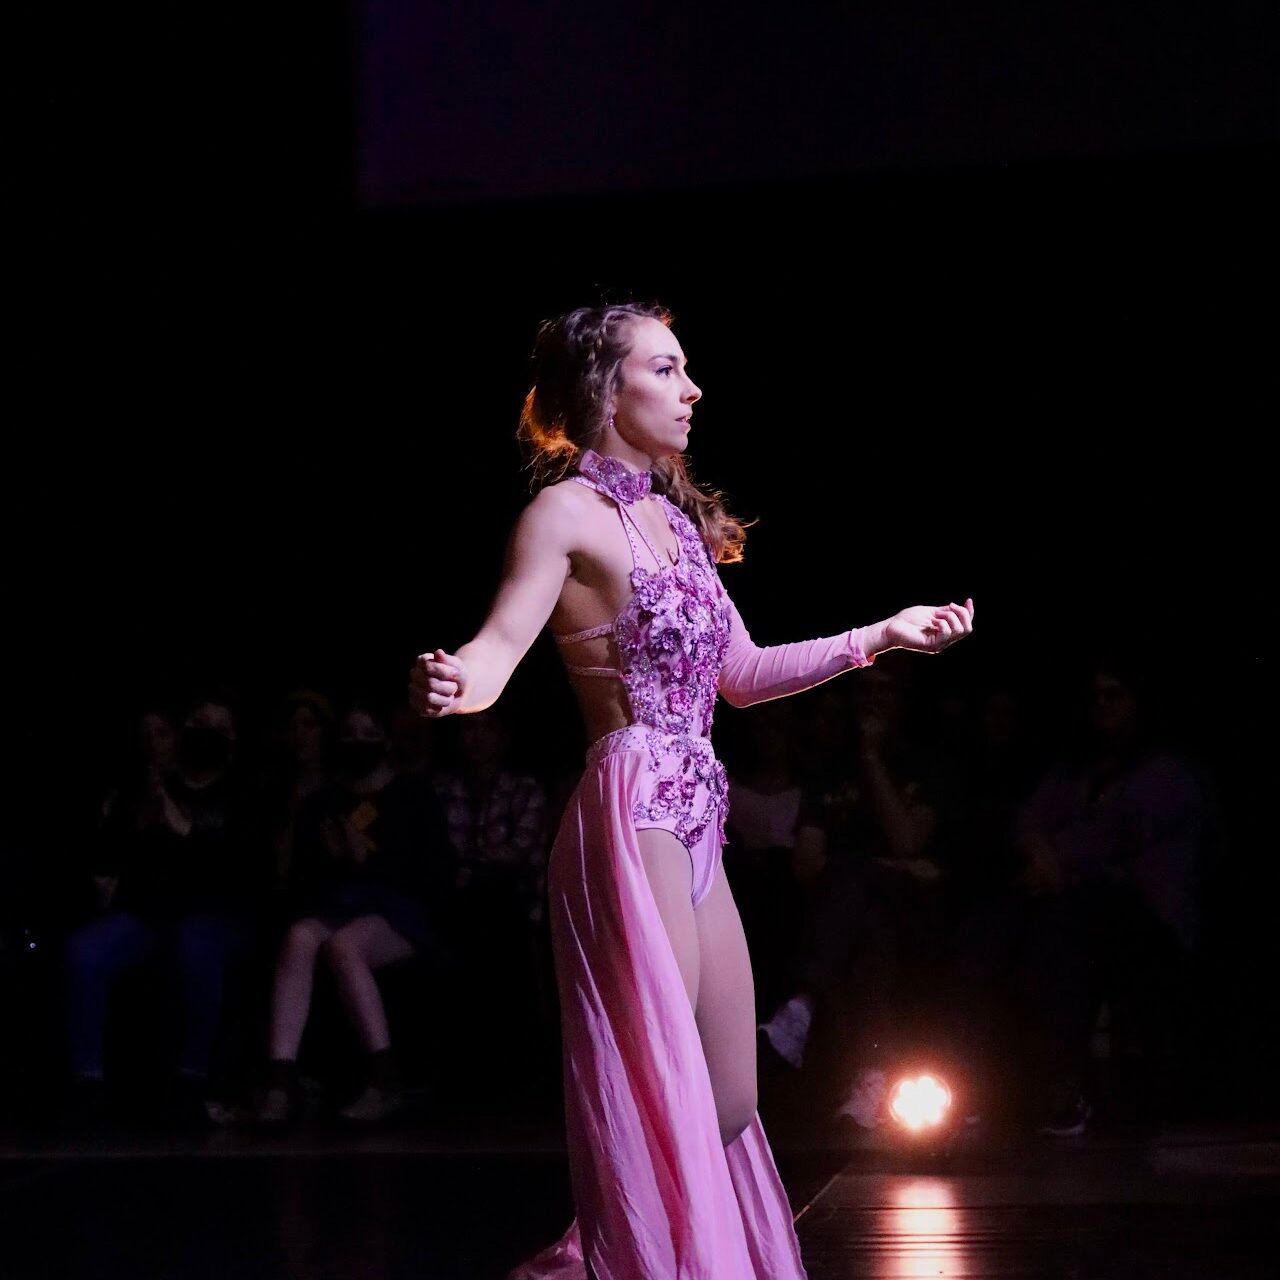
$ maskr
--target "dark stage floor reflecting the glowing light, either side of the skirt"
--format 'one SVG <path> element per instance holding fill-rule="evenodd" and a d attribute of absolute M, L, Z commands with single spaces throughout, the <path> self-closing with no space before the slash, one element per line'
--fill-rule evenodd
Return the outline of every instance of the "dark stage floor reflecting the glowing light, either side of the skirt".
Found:
<path fill-rule="evenodd" d="M 812 1280 L 1280 1275 L 1275 1126 L 975 1134 L 934 1152 L 879 1133 L 774 1144 Z M 550 1120 L 315 1123 L 271 1139 L 108 1126 L 0 1144 L 6 1280 L 500 1280 L 570 1215 Z"/>

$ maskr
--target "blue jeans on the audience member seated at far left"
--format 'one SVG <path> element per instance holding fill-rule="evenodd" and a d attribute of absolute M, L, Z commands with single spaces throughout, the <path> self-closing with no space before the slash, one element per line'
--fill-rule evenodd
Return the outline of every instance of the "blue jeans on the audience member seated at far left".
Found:
<path fill-rule="evenodd" d="M 108 1000 L 118 977 L 157 959 L 177 997 L 178 1069 L 205 1075 L 218 1034 L 227 969 L 250 941 L 232 913 L 141 920 L 111 911 L 67 940 L 67 1038 L 72 1070 L 101 1075 Z"/>

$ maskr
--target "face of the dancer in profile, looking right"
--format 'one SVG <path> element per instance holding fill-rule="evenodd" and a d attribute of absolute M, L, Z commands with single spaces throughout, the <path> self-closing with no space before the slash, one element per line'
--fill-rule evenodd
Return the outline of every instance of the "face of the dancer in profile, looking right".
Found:
<path fill-rule="evenodd" d="M 644 316 L 632 323 L 631 349 L 621 375 L 613 396 L 618 435 L 652 458 L 682 453 L 689 445 L 694 402 L 703 393 L 685 372 L 685 353 L 676 335 L 660 320 Z"/>

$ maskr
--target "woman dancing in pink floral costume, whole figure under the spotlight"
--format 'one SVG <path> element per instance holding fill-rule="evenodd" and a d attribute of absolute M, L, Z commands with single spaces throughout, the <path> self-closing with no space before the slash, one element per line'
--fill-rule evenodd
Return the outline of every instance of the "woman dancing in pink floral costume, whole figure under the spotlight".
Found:
<path fill-rule="evenodd" d="M 511 1280 L 801 1280 L 756 1114 L 713 703 L 797 692 L 886 649 L 937 653 L 970 631 L 973 602 L 758 648 L 716 571 L 741 559 L 744 529 L 685 467 L 701 392 L 669 314 L 545 321 L 534 366 L 521 436 L 543 488 L 479 632 L 410 678 L 424 716 L 477 712 L 549 623 L 590 742 L 548 864 L 577 1216 Z"/>

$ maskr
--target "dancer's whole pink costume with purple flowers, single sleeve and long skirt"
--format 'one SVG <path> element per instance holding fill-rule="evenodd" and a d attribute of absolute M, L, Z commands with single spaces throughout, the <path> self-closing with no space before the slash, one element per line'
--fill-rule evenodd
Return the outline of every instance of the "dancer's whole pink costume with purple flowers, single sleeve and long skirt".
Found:
<path fill-rule="evenodd" d="M 721 1142 L 694 1010 L 636 832 L 680 838 L 696 906 L 724 840 L 724 768 L 708 737 L 717 689 L 746 707 L 869 659 L 858 631 L 756 648 L 685 513 L 658 495 L 680 544 L 675 564 L 635 522 L 627 508 L 649 494 L 649 472 L 586 451 L 573 479 L 618 504 L 635 594 L 613 622 L 558 639 L 613 636 L 621 669 L 570 669 L 621 678 L 632 723 L 588 749 L 548 867 L 577 1217 L 508 1280 L 586 1280 L 584 1253 L 595 1280 L 804 1280 L 759 1115 Z"/>

